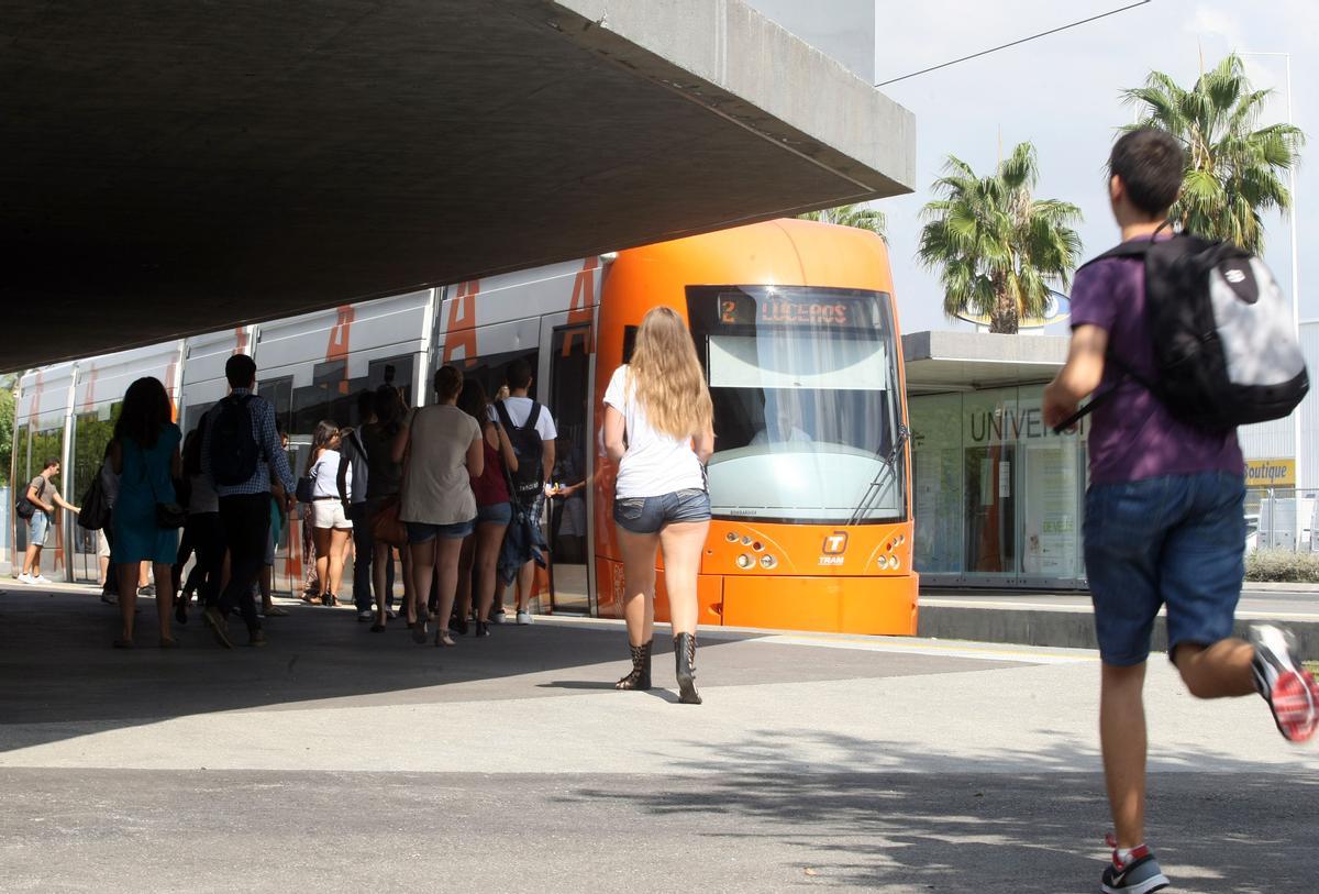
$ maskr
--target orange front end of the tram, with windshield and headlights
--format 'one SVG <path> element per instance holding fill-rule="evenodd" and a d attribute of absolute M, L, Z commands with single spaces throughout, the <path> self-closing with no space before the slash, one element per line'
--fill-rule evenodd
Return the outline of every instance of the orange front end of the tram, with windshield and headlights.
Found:
<path fill-rule="evenodd" d="M 620 252 L 599 309 L 596 407 L 656 305 L 685 315 L 715 405 L 700 622 L 915 633 L 906 388 L 882 240 L 774 220 Z M 603 446 L 595 462 L 598 612 L 621 617 Z M 662 581 L 661 570 L 661 620 Z"/>

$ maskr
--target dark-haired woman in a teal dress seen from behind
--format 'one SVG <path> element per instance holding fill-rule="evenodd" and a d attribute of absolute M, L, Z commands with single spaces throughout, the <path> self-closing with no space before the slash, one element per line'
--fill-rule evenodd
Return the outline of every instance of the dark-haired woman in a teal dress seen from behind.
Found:
<path fill-rule="evenodd" d="M 178 529 L 161 527 L 156 505 L 174 504 L 178 477 L 178 444 L 182 434 L 173 423 L 173 406 L 157 378 L 138 378 L 128 386 L 109 460 L 119 473 L 119 497 L 111 520 L 115 545 L 109 560 L 119 574 L 119 609 L 123 634 L 116 649 L 133 647 L 133 614 L 137 611 L 137 570 L 142 562 L 156 566 L 156 614 L 160 618 L 160 646 L 171 649 L 178 641 L 170 634 L 174 605 L 174 575 Z"/>

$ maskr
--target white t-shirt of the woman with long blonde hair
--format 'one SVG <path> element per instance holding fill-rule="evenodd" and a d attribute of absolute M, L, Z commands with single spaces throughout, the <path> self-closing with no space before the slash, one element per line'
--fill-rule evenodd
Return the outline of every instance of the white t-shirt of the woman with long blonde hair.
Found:
<path fill-rule="evenodd" d="M 660 497 L 674 491 L 703 491 L 706 479 L 690 438 L 673 438 L 656 431 L 646 422 L 646 413 L 634 400 L 634 388 L 627 385 L 628 365 L 613 371 L 604 402 L 623 414 L 627 422 L 628 451 L 619 463 L 616 497 Z"/>

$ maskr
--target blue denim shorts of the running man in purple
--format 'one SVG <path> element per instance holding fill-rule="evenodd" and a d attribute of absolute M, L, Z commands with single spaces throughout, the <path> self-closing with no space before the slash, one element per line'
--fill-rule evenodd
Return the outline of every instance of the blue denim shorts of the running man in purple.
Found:
<path fill-rule="evenodd" d="M 1086 574 L 1108 665 L 1140 665 L 1167 605 L 1167 651 L 1232 636 L 1245 576 L 1245 480 L 1229 472 L 1095 484 Z"/>

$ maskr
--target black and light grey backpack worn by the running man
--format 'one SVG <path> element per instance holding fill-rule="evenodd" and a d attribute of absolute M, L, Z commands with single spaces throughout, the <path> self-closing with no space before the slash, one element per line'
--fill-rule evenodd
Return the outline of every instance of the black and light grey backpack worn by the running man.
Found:
<path fill-rule="evenodd" d="M 1109 257 L 1145 261 L 1145 322 L 1158 374 L 1148 381 L 1112 347 L 1107 360 L 1174 418 L 1225 431 L 1281 419 L 1304 398 L 1310 380 L 1291 307 L 1264 261 L 1231 243 L 1179 233 L 1122 243 L 1084 266 Z M 1112 392 L 1059 427 L 1071 427 Z"/>

